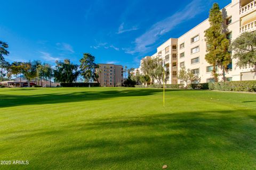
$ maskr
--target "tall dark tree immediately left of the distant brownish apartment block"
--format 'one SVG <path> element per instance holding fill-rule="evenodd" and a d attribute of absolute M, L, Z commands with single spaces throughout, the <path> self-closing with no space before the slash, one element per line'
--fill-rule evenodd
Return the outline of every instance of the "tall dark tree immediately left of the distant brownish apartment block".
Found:
<path fill-rule="evenodd" d="M 99 65 L 94 63 L 95 57 L 90 53 L 84 53 L 80 60 L 81 75 L 87 82 L 97 81 L 99 83 L 99 74 L 97 69 Z"/>

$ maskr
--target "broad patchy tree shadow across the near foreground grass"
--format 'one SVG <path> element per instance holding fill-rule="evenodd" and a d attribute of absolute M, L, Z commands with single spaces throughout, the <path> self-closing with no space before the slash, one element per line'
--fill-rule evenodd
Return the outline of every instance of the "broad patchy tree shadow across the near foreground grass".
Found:
<path fill-rule="evenodd" d="M 46 164 L 73 169 L 160 169 L 163 164 L 171 169 L 253 169 L 256 130 L 249 115 L 255 111 L 111 117 L 70 122 L 59 130 L 24 131 L 4 140 L 52 140 L 51 146 L 35 151 L 38 160 L 51 157 L 38 163 L 39 169 Z"/>

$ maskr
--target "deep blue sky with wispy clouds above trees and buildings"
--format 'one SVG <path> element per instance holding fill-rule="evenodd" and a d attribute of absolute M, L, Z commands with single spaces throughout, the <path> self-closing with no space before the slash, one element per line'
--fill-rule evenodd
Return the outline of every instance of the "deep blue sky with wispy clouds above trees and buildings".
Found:
<path fill-rule="evenodd" d="M 138 67 L 169 38 L 178 38 L 207 19 L 214 2 L 231 0 L 0 0 L 0 40 L 7 61 L 78 63 L 91 53 L 97 63 Z"/>

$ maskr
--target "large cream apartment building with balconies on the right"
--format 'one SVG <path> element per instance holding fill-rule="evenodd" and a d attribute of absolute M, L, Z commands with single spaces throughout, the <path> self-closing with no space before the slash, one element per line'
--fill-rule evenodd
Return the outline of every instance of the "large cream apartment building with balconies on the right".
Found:
<path fill-rule="evenodd" d="M 226 36 L 230 42 L 244 31 L 256 30 L 256 0 L 232 0 L 222 10 L 225 19 Z M 213 67 L 205 61 L 206 42 L 204 31 L 210 27 L 208 19 L 186 32 L 179 38 L 170 38 L 157 48 L 151 57 L 161 57 L 170 71 L 169 84 L 183 83 L 177 79 L 177 73 L 183 66 L 191 69 L 201 78 L 201 82 L 214 81 Z M 142 59 L 143 60 L 143 59 Z M 230 61 L 227 81 L 256 80 L 256 73 L 250 68 L 239 68 L 236 60 Z M 218 67 L 219 81 L 223 81 L 222 68 Z M 138 69 L 140 70 L 140 68 Z"/>

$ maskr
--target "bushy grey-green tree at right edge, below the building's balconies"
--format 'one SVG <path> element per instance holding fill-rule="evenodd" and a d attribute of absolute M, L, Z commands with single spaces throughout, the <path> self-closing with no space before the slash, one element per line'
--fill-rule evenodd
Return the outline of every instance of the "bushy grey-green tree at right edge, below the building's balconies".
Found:
<path fill-rule="evenodd" d="M 256 32 L 244 32 L 231 44 L 239 67 L 253 67 L 256 71 Z"/>

